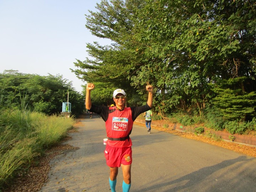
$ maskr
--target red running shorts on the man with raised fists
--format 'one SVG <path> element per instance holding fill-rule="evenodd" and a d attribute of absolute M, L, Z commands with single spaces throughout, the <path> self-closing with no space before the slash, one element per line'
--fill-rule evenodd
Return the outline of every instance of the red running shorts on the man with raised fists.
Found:
<path fill-rule="evenodd" d="M 104 154 L 109 167 L 132 164 L 132 147 L 115 148 L 107 144 Z"/>

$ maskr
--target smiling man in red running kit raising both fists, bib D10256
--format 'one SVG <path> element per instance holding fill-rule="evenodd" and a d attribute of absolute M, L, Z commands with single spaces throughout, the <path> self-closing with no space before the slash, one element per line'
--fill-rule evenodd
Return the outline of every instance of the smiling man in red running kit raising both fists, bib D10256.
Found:
<path fill-rule="evenodd" d="M 109 183 L 112 192 L 116 191 L 116 178 L 118 167 L 123 171 L 123 192 L 128 192 L 131 186 L 132 166 L 132 140 L 129 135 L 132 132 L 133 122 L 139 114 L 148 111 L 153 104 L 153 87 L 147 85 L 148 101 L 140 107 L 125 107 L 126 93 L 122 89 L 113 92 L 114 107 L 95 106 L 91 103 L 91 90 L 95 88 L 93 83 L 86 86 L 86 109 L 99 114 L 105 121 L 107 132 L 107 145 L 105 149 L 106 163 L 110 167 Z"/>

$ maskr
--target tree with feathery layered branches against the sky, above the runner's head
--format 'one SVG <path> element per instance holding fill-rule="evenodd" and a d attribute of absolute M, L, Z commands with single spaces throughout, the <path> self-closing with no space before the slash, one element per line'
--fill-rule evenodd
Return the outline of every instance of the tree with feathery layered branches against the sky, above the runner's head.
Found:
<path fill-rule="evenodd" d="M 127 90 L 130 96 L 138 95 L 131 86 L 130 76 L 134 75 L 136 56 L 126 46 L 132 41 L 132 28 L 137 20 L 137 9 L 142 6 L 142 0 L 103 0 L 97 4 L 97 12 L 86 15 L 86 27 L 97 37 L 111 39 L 109 46 L 100 46 L 97 42 L 87 43 L 89 55 L 85 61 L 77 60 L 79 69 L 72 70 L 79 78 L 87 82 L 111 83 L 113 87 Z M 102 89 L 106 89 L 102 86 Z M 108 90 L 106 89 L 106 92 Z M 131 97 L 130 97 L 131 98 Z M 107 98 L 106 98 L 107 100 Z"/>

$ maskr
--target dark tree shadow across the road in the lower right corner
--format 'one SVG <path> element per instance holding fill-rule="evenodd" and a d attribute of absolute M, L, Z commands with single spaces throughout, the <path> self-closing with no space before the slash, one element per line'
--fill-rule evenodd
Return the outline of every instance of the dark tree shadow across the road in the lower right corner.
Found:
<path fill-rule="evenodd" d="M 220 162 L 216 165 L 213 166 L 208 166 L 208 167 L 203 167 L 202 169 L 199 169 L 197 171 L 191 172 L 190 174 L 187 174 L 183 177 L 180 177 L 176 180 L 172 180 L 169 182 L 163 182 L 157 185 L 152 185 L 152 186 L 148 186 L 146 188 L 140 188 L 139 191 L 157 191 L 159 188 L 162 188 L 163 186 L 165 186 L 166 188 L 168 188 L 168 190 L 165 190 L 165 192 L 170 192 L 170 191 L 194 191 L 193 189 L 196 190 L 197 186 L 200 185 L 200 183 L 202 182 L 206 182 L 206 180 L 208 180 L 208 176 L 214 174 L 215 172 L 220 171 L 221 169 L 224 169 L 226 167 L 230 167 L 230 171 L 232 172 L 232 170 L 234 169 L 239 169 L 240 166 L 242 166 L 242 164 L 245 164 L 246 161 L 251 161 L 252 159 L 247 159 L 246 156 L 239 156 L 236 159 L 230 159 L 230 160 L 225 160 L 223 162 Z M 242 162 L 239 165 L 233 166 L 234 164 L 238 163 L 238 162 Z M 249 170 L 241 170 L 241 174 L 246 174 L 246 172 L 248 172 Z M 255 172 L 256 169 L 254 167 L 253 170 L 251 170 L 251 174 L 253 174 L 253 172 Z M 224 172 L 223 174 L 219 175 L 215 181 L 210 181 L 212 183 L 212 185 L 210 186 L 205 186 L 205 188 L 202 191 L 219 191 L 219 189 L 221 187 L 218 186 L 218 180 L 222 180 L 221 183 L 223 183 L 226 178 L 225 175 L 229 174 L 229 172 Z M 248 173 L 249 174 L 249 173 Z M 255 174 L 254 174 L 255 175 Z M 252 178 L 252 180 L 256 180 L 256 176 L 254 178 Z M 239 182 L 239 185 L 237 185 Z M 234 177 L 232 180 L 227 180 L 226 185 L 230 185 L 230 190 L 232 188 L 234 188 L 234 191 L 248 191 L 246 190 L 246 188 L 248 188 L 248 186 L 250 186 L 251 182 L 247 181 L 247 182 L 241 182 L 241 181 L 237 181 L 236 178 Z M 179 184 L 179 185 L 178 185 Z M 175 186 L 175 187 L 174 187 Z M 213 187 L 215 186 L 215 187 Z M 216 187 L 218 186 L 218 187 Z M 226 187 L 223 187 L 223 189 Z M 255 188 L 254 188 L 255 189 Z M 252 190 L 252 188 L 251 188 Z M 225 191 L 225 190 L 224 190 Z M 254 190 L 252 190 L 254 191 Z"/>

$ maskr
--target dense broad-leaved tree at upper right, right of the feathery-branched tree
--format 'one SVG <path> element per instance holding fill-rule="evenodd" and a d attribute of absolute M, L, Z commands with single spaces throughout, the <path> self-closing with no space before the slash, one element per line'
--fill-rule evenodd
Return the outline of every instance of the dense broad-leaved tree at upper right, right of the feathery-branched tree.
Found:
<path fill-rule="evenodd" d="M 254 12 L 253 1 L 147 1 L 135 28 L 138 52 L 149 63 L 133 81 L 151 73 L 161 103 L 199 112 L 214 95 L 209 83 L 248 76 L 254 84 Z"/>

